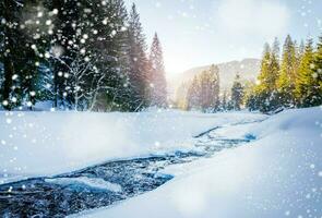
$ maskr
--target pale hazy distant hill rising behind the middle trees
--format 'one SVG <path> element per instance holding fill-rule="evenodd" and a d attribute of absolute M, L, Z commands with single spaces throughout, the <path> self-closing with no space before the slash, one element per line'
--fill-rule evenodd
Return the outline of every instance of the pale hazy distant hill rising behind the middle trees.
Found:
<path fill-rule="evenodd" d="M 241 61 L 230 61 L 217 64 L 220 76 L 220 90 L 230 90 L 236 73 L 239 73 L 243 81 L 255 81 L 260 72 L 261 60 L 243 59 Z M 182 84 L 191 81 L 196 74 L 204 70 L 208 70 L 210 65 L 198 66 L 184 71 L 171 80 L 168 80 L 168 92 L 170 97 L 175 96 L 177 88 Z"/>

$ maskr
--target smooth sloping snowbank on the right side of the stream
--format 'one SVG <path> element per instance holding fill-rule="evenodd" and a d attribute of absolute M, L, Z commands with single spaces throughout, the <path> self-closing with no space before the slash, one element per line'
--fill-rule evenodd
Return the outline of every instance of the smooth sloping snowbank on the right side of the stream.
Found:
<path fill-rule="evenodd" d="M 95 218 L 322 216 L 321 108 L 288 110 L 261 123 L 226 125 L 217 133 L 249 134 L 257 140 L 213 158 L 171 167 L 166 172 L 175 179 L 159 189 L 81 215 Z"/>

